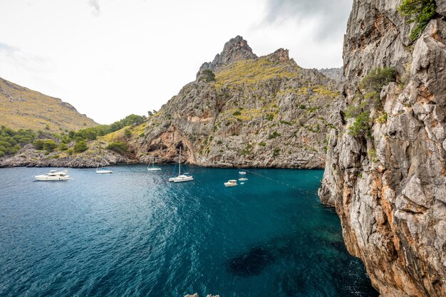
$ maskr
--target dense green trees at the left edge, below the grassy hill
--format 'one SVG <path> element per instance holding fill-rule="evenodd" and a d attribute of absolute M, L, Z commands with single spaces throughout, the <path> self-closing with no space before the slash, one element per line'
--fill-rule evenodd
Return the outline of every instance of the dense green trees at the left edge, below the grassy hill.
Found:
<path fill-rule="evenodd" d="M 0 127 L 0 157 L 15 155 L 21 147 L 33 142 L 36 133 L 32 130 L 19 129 L 14 131 L 9 127 Z"/>

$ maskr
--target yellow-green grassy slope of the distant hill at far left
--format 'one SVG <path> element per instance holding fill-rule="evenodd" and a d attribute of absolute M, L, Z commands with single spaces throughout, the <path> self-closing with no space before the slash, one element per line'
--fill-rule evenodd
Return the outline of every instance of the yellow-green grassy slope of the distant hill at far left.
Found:
<path fill-rule="evenodd" d="M 85 123 L 85 124 L 84 124 Z M 0 78 L 0 125 L 52 132 L 98 125 L 68 103 Z"/>

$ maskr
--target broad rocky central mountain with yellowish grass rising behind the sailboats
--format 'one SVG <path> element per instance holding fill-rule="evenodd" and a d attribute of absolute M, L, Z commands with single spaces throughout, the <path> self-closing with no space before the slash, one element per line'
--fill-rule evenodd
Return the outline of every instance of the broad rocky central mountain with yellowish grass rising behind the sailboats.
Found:
<path fill-rule="evenodd" d="M 297 66 L 288 51 L 257 57 L 237 36 L 203 69 L 214 82 L 185 85 L 147 123 L 138 160 L 210 167 L 325 165 L 326 135 L 341 123 L 336 82 Z"/>

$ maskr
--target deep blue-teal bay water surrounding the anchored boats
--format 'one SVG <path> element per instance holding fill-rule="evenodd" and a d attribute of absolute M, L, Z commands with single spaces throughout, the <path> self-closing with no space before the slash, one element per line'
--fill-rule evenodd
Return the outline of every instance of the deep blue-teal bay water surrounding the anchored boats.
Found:
<path fill-rule="evenodd" d="M 256 169 L 280 182 L 225 188 L 238 170 L 173 184 L 172 166 L 113 169 L 0 170 L 0 296 L 378 296 L 318 202 L 321 170 Z"/>

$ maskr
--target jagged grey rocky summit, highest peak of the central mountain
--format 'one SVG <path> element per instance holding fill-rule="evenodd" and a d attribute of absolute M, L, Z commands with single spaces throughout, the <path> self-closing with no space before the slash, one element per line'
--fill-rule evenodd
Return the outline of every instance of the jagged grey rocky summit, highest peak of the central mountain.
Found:
<path fill-rule="evenodd" d="M 252 49 L 248 45 L 248 42 L 244 40 L 242 36 L 236 36 L 234 38 L 231 38 L 227 43 L 224 43 L 222 53 L 217 53 L 214 61 L 205 62 L 202 64 L 202 66 L 199 68 L 197 76 L 204 69 L 216 71 L 222 66 L 227 66 L 240 60 L 254 58 L 257 58 L 257 56 L 255 53 L 252 52 Z"/>

